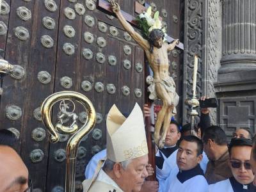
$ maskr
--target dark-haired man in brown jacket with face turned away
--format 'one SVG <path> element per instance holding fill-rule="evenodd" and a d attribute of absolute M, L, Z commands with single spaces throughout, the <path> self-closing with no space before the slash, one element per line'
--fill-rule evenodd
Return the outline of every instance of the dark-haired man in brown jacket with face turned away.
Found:
<path fill-rule="evenodd" d="M 205 178 L 209 184 L 232 177 L 228 166 L 227 136 L 221 127 L 212 125 L 205 129 L 202 138 L 204 151 L 209 162 L 207 164 Z"/>

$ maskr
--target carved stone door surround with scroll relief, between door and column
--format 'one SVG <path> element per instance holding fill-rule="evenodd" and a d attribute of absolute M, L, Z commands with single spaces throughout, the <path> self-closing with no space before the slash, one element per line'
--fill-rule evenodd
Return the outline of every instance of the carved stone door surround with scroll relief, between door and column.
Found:
<path fill-rule="evenodd" d="M 183 100 L 191 97 L 195 54 L 199 56 L 196 93 L 215 97 L 214 83 L 221 58 L 221 3 L 218 0 L 186 0 L 184 27 Z M 216 110 L 211 111 L 212 123 Z M 183 106 L 183 123 L 188 122 L 188 106 Z"/>

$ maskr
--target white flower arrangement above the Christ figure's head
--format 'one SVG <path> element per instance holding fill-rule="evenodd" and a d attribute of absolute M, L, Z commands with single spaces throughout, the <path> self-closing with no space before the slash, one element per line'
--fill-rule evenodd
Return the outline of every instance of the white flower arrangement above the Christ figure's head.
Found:
<path fill-rule="evenodd" d="M 152 8 L 151 6 L 148 7 L 146 12 L 140 13 L 138 17 L 136 17 L 136 21 L 138 22 L 138 26 L 141 28 L 141 33 L 144 38 L 148 38 L 150 31 L 153 29 L 160 29 L 164 33 L 164 42 L 166 41 L 166 29 L 162 27 L 162 22 L 159 19 L 159 12 L 157 11 L 152 15 Z"/>

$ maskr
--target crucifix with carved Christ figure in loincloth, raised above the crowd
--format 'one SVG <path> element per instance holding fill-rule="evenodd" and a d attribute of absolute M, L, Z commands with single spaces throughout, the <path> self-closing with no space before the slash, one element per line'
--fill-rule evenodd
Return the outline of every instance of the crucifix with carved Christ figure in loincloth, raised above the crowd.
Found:
<path fill-rule="evenodd" d="M 108 12 L 115 13 L 125 31 L 127 31 L 142 47 L 142 49 L 145 51 L 145 55 L 147 56 L 148 65 L 152 70 L 152 76 L 147 77 L 147 83 L 149 84 L 148 92 L 150 92 L 149 99 L 161 99 L 163 101 L 162 109 L 157 115 L 154 131 L 154 143 L 158 148 L 163 148 L 166 134 L 170 126 L 171 117 L 173 114 L 175 114 L 175 106 L 177 106 L 179 102 L 179 95 L 177 95 L 175 92 L 175 83 L 172 77 L 169 76 L 167 52 L 171 51 L 175 47 L 184 49 L 183 44 L 180 43 L 179 40 L 174 40 L 170 36 L 164 36 L 164 32 L 161 27 L 153 28 L 150 31 L 147 31 L 149 33 L 146 37 L 145 35 L 140 35 L 131 26 L 133 25 L 138 27 L 138 22 L 136 22 L 136 19 L 128 13 L 120 10 L 120 6 L 115 2 L 115 0 L 108 1 L 109 3 L 104 0 L 99 0 L 98 6 Z M 146 10 L 146 8 L 137 4 L 136 10 L 137 13 L 141 14 Z M 151 12 L 148 14 L 149 15 L 147 16 L 152 19 Z M 158 19 L 158 15 L 154 19 Z M 160 21 L 157 20 L 157 22 Z M 166 42 L 164 42 L 164 38 L 166 38 Z M 147 125 L 147 122 L 149 125 Z M 146 120 L 146 129 L 147 127 L 150 127 L 149 120 Z M 154 145 L 152 145 L 152 138 L 149 134 L 149 130 L 147 129 L 146 132 L 148 139 L 149 161 L 152 166 L 155 167 L 155 148 Z"/>

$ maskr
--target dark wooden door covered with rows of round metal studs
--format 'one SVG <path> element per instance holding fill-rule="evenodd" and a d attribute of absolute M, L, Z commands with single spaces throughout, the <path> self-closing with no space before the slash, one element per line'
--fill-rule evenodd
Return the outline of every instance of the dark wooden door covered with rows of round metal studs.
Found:
<path fill-rule="evenodd" d="M 122 10 L 136 16 L 134 0 L 119 3 Z M 161 15 L 167 13 L 163 19 L 168 33 L 182 38 L 183 3 L 147 3 L 154 3 Z M 12 77 L 4 77 L 2 83 L 1 129 L 10 128 L 19 135 L 15 147 L 28 166 L 35 191 L 63 191 L 65 186 L 68 136 L 63 135 L 60 143 L 49 143 L 40 114 L 43 100 L 62 90 L 80 92 L 92 100 L 97 124 L 79 147 L 79 191 L 86 164 L 106 145 L 106 115 L 111 106 L 116 104 L 128 114 L 135 102 L 143 105 L 143 50 L 116 18 L 99 10 L 92 0 L 2 1 L 0 49 L 5 51 L 1 56 L 16 65 Z M 180 95 L 182 52 L 175 50 L 169 57 Z M 81 125 L 84 111 L 79 110 Z"/>

